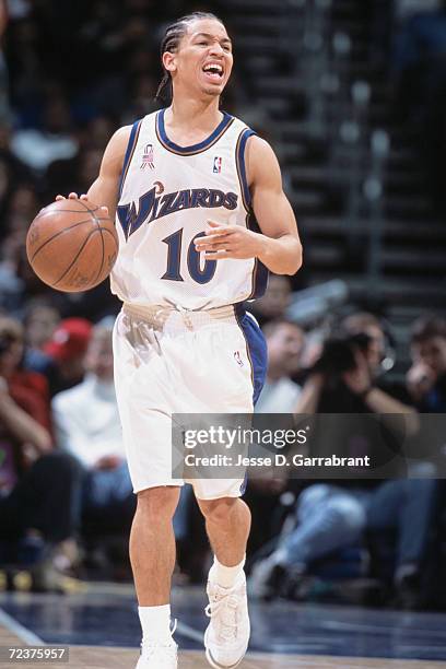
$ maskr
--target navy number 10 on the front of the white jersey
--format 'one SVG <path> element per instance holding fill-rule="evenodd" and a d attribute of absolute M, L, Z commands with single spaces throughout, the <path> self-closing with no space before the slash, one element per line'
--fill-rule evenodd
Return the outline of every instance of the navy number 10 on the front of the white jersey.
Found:
<path fill-rule="evenodd" d="M 206 260 L 203 267 L 200 263 L 200 254 L 196 250 L 195 239 L 203 237 L 204 233 L 199 233 L 189 244 L 187 251 L 187 268 L 190 278 L 197 283 L 209 283 L 216 270 L 216 260 Z M 169 281 L 184 281 L 180 273 L 181 265 L 181 246 L 183 246 L 183 227 L 174 234 L 163 239 L 167 244 L 167 269 L 162 275 L 162 279 Z"/>

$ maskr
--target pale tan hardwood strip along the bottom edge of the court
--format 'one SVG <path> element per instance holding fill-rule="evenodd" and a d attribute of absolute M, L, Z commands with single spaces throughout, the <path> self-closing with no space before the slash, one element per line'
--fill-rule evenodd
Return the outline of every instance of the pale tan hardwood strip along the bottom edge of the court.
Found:
<path fill-rule="evenodd" d="M 0 625 L 0 646 L 24 645 L 23 639 Z M 39 669 L 134 669 L 138 652 L 128 648 L 99 646 L 71 646 L 69 664 L 26 662 Z M 15 664 L 19 666 L 19 664 Z M 0 662 L 0 668 L 12 669 L 11 662 Z M 446 662 L 424 660 L 362 659 L 351 657 L 315 657 L 296 655 L 250 654 L 240 669 L 445 669 Z M 179 654 L 179 669 L 209 669 L 203 653 L 184 650 Z"/>

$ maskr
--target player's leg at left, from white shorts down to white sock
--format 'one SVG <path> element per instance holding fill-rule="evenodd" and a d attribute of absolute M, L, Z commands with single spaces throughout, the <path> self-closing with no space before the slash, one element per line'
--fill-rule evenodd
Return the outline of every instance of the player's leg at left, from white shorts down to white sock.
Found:
<path fill-rule="evenodd" d="M 175 563 L 173 516 L 183 481 L 172 479 L 168 375 L 160 342 L 141 319 L 121 314 L 114 332 L 115 385 L 137 510 L 130 560 L 139 601 L 142 650 L 138 669 L 176 669 L 171 631 Z"/>

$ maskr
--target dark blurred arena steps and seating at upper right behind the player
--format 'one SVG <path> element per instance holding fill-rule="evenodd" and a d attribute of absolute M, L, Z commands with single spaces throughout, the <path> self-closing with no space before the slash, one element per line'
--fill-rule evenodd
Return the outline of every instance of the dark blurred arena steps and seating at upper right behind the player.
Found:
<path fill-rule="evenodd" d="M 400 353 L 420 308 L 443 305 L 446 227 L 425 192 L 413 128 L 395 115 L 388 47 L 377 51 L 369 4 L 225 2 L 247 98 L 262 109 L 253 125 L 282 162 L 306 280 L 337 277 L 352 300 L 389 303 Z M 387 141 L 380 155 L 376 131 Z"/>

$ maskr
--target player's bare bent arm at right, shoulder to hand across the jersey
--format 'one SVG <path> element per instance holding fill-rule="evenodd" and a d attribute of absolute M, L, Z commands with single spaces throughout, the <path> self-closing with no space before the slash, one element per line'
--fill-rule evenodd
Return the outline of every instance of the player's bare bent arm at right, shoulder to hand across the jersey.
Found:
<path fill-rule="evenodd" d="M 277 274 L 294 274 L 302 265 L 302 245 L 291 204 L 283 192 L 278 160 L 271 146 L 258 137 L 247 143 L 247 174 L 253 209 L 260 233 L 239 225 L 209 222 L 197 250 L 209 259 L 255 258 Z"/>

